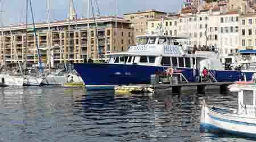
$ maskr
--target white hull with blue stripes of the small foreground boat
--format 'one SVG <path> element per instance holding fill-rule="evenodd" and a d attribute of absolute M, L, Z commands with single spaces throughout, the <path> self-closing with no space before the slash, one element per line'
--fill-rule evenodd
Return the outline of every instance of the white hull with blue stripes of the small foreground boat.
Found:
<path fill-rule="evenodd" d="M 242 117 L 236 113 L 229 113 L 229 111 L 232 110 L 216 110 L 203 103 L 200 122 L 201 130 L 256 137 L 256 117 Z"/>

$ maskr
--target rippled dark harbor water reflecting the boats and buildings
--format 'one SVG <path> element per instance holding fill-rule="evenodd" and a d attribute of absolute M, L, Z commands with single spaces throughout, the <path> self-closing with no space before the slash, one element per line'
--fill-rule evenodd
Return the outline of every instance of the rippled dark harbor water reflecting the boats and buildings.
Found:
<path fill-rule="evenodd" d="M 0 89 L 0 141 L 255 141 L 200 132 L 200 100 L 237 94 L 118 94 L 62 87 Z"/>

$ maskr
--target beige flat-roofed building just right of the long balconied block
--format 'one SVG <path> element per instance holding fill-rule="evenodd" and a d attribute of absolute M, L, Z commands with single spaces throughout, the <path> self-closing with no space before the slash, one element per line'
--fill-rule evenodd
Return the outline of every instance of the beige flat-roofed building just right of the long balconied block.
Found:
<path fill-rule="evenodd" d="M 148 33 L 148 23 L 147 20 L 160 18 L 165 15 L 166 12 L 156 11 L 156 10 L 144 10 L 137 11 L 129 14 L 124 14 L 123 17 L 131 21 L 131 28 L 134 29 L 133 32 L 133 44 L 136 44 L 136 37 L 139 35 L 145 35 Z"/>

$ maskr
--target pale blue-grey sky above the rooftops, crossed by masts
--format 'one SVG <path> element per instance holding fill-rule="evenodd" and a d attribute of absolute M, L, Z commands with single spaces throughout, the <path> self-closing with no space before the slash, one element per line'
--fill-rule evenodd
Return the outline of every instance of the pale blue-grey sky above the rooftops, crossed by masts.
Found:
<path fill-rule="evenodd" d="M 31 0 L 34 18 L 36 22 L 47 21 L 47 1 Z M 26 0 L 0 0 L 3 12 L 3 23 L 25 23 Z M 183 0 L 117 0 L 118 15 L 136 12 L 137 10 L 155 9 L 164 12 L 180 10 Z M 79 18 L 87 17 L 87 0 L 73 0 Z M 115 14 L 115 0 L 98 0 L 101 15 Z M 30 11 L 30 9 L 29 9 Z M 31 12 L 28 12 L 28 20 L 31 23 Z M 63 20 L 68 15 L 68 0 L 51 0 L 51 21 Z"/>

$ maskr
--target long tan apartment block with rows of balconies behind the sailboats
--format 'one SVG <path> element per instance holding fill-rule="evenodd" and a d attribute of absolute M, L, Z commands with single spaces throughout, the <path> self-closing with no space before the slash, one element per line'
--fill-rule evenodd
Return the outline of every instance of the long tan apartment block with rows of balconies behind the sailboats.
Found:
<path fill-rule="evenodd" d="M 115 33 L 115 20 L 117 20 L 117 33 Z M 95 19 L 95 21 L 89 19 L 89 35 L 87 23 L 87 19 L 72 21 L 70 38 L 68 38 L 68 20 L 52 22 L 49 37 L 47 23 L 36 24 L 36 36 L 32 25 L 28 25 L 27 61 L 36 63 L 39 60 L 36 48 L 37 40 L 41 59 L 44 63 L 47 63 L 48 55 L 51 55 L 54 63 L 64 63 L 68 60 L 82 63 L 84 59 L 88 58 L 105 59 L 105 54 L 126 51 L 127 47 L 133 43 L 131 37 L 133 29 L 130 28 L 129 20 L 115 19 L 114 16 L 103 16 Z M 26 25 L 4 27 L 1 31 L 3 31 L 0 41 L 1 63 L 24 62 L 26 59 Z M 51 53 L 48 53 L 47 45 L 51 45 Z"/>

